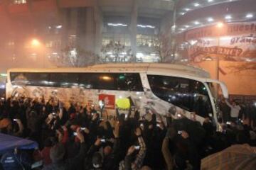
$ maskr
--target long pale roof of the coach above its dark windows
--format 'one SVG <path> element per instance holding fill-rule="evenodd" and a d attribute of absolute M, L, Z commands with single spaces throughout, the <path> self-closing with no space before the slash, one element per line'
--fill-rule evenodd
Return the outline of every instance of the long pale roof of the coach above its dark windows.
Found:
<path fill-rule="evenodd" d="M 197 67 L 185 66 L 181 64 L 162 64 L 162 63 L 133 63 L 133 64 L 97 64 L 90 67 L 63 67 L 49 69 L 30 69 L 17 68 L 9 69 L 8 72 L 139 72 L 159 74 L 185 74 L 191 77 L 210 78 L 210 74 Z"/>

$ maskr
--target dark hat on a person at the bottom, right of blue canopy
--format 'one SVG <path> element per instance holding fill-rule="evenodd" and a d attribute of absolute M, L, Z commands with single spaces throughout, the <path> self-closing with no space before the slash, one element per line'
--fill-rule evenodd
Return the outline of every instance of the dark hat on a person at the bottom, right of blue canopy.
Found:
<path fill-rule="evenodd" d="M 57 144 L 50 149 L 50 159 L 53 163 L 60 162 L 65 154 L 65 148 L 62 144 Z"/>

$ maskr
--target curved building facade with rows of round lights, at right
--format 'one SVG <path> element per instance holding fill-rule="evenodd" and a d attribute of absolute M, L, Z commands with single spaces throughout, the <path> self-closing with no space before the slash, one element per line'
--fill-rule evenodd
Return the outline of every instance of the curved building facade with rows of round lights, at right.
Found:
<path fill-rule="evenodd" d="M 238 100 L 256 101 L 254 0 L 178 1 L 175 28 L 181 62 L 206 69 Z"/>

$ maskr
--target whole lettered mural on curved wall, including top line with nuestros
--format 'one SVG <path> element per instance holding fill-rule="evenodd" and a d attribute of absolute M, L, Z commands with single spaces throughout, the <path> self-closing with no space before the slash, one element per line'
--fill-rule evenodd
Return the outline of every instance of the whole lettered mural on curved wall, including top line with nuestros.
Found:
<path fill-rule="evenodd" d="M 189 30 L 185 36 L 188 57 L 194 62 L 220 60 L 256 62 L 256 23 L 236 23 Z"/>

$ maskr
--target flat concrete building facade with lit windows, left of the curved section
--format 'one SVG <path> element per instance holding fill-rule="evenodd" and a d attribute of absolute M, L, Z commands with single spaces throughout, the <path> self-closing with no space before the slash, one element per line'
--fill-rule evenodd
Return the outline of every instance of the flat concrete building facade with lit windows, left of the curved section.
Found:
<path fill-rule="evenodd" d="M 0 1 L 1 60 L 7 63 L 1 70 L 158 62 L 173 11 L 174 2 L 166 0 Z"/>

